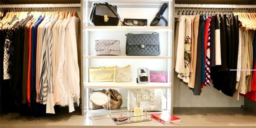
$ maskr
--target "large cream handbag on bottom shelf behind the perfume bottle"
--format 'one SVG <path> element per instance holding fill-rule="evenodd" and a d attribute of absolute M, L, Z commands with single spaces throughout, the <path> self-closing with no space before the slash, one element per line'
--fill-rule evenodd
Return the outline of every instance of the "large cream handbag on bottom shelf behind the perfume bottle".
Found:
<path fill-rule="evenodd" d="M 140 107 L 145 111 L 162 111 L 163 90 L 157 89 L 129 89 L 127 98 L 128 111 L 137 107 L 140 101 Z"/>

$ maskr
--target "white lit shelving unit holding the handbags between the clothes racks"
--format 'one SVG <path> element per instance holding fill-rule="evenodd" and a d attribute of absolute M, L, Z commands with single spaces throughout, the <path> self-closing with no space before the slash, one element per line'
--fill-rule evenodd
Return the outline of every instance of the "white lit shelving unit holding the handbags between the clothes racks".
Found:
<path fill-rule="evenodd" d="M 90 26 L 88 16 L 93 2 L 104 3 L 108 2 L 117 6 L 117 12 L 123 18 L 147 19 L 147 26 Z M 150 26 L 150 22 L 155 17 L 156 13 L 161 8 L 161 5 L 168 3 L 168 9 L 164 13 L 164 17 L 168 20 L 168 26 Z M 172 0 L 83 0 L 83 84 L 84 84 L 84 102 L 85 102 L 85 118 L 88 119 L 86 126 L 100 125 L 97 122 L 90 121 L 88 118 L 88 99 L 90 89 L 101 90 L 102 88 L 115 88 L 118 90 L 123 99 L 122 111 L 127 108 L 126 97 L 129 88 L 161 88 L 164 90 L 167 100 L 167 109 L 165 112 L 171 113 L 171 83 L 172 83 Z M 159 56 L 126 56 L 126 33 L 159 33 L 160 50 Z M 120 40 L 120 55 L 119 56 L 96 56 L 95 55 L 95 40 Z M 126 66 L 130 64 L 133 74 L 131 82 L 89 82 L 89 67 L 90 66 Z M 167 83 L 136 83 L 137 68 L 147 67 L 149 70 L 167 71 Z M 124 103 L 125 102 L 125 103 Z M 100 115 L 104 109 L 94 110 L 95 115 Z M 150 121 L 154 123 L 136 123 L 142 126 L 163 126 L 158 121 Z M 105 126 L 111 126 L 113 122 L 104 120 Z M 156 123 L 156 124 L 155 124 Z M 100 125 L 101 126 L 101 125 Z M 129 126 L 129 125 L 128 125 Z"/>

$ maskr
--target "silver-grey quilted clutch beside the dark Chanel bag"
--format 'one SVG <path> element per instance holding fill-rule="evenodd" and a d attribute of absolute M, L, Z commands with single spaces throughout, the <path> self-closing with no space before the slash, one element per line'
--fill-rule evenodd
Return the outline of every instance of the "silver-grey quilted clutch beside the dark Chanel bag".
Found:
<path fill-rule="evenodd" d="M 96 55 L 120 55 L 119 40 L 95 40 Z"/>

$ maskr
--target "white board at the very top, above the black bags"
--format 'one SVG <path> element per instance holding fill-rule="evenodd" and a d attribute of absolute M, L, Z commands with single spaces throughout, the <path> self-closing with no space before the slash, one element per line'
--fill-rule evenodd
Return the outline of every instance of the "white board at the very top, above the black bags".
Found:
<path fill-rule="evenodd" d="M 109 4 L 163 4 L 169 2 L 169 0 L 88 0 L 90 2 L 99 2 L 104 3 L 108 2 Z"/>

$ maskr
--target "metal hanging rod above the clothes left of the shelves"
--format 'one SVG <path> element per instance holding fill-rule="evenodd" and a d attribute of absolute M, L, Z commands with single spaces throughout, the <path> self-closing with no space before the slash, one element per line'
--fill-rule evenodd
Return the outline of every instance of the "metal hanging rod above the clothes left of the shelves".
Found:
<path fill-rule="evenodd" d="M 33 8 L 33 7 L 81 7 L 81 4 L 13 4 L 0 5 L 0 8 Z"/>

